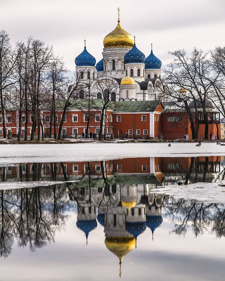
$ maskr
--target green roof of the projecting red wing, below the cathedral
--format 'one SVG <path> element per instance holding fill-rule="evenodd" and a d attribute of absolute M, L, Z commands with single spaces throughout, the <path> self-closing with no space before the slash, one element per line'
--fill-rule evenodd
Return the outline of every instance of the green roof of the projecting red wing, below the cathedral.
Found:
<path fill-rule="evenodd" d="M 119 101 L 115 103 L 114 112 L 155 111 L 160 100 Z"/>

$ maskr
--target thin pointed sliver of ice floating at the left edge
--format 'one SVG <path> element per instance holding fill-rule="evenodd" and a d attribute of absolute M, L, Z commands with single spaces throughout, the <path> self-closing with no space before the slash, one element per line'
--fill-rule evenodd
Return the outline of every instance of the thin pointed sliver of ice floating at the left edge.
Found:
<path fill-rule="evenodd" d="M 53 184 L 64 184 L 67 181 L 5 181 L 0 182 L 0 190 L 20 189 L 29 187 L 50 186 Z M 76 182 L 76 181 L 69 181 Z"/>

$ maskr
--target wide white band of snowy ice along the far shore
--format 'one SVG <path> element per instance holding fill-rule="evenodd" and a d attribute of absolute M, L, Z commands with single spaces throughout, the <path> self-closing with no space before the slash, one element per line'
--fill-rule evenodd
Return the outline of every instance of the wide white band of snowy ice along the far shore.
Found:
<path fill-rule="evenodd" d="M 196 143 L 82 143 L 0 145 L 0 164 L 26 162 L 81 162 L 131 157 L 194 157 L 225 155 L 225 146 Z"/>

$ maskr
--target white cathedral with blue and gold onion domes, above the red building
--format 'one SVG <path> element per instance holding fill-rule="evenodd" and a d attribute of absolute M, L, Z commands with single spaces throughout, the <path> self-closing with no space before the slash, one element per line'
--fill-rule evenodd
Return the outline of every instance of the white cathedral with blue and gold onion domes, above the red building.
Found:
<path fill-rule="evenodd" d="M 95 82 L 96 77 L 98 81 L 115 79 L 119 93 L 111 95 L 113 101 L 157 100 L 158 93 L 165 90 L 161 81 L 162 62 L 152 50 L 146 57 L 137 48 L 135 37 L 120 25 L 119 8 L 118 24 L 104 37 L 103 45 L 103 58 L 97 64 L 86 46 L 76 57 L 76 74 L 83 83 Z M 96 98 L 101 98 L 101 94 L 96 93 Z"/>

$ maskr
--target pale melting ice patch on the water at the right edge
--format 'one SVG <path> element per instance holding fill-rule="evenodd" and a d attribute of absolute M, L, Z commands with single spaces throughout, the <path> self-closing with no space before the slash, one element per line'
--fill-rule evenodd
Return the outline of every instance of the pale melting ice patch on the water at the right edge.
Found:
<path fill-rule="evenodd" d="M 170 195 L 175 199 L 192 199 L 198 202 L 221 203 L 225 202 L 225 183 L 198 182 L 188 185 L 168 185 L 152 189 L 152 193 Z"/>

